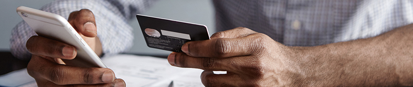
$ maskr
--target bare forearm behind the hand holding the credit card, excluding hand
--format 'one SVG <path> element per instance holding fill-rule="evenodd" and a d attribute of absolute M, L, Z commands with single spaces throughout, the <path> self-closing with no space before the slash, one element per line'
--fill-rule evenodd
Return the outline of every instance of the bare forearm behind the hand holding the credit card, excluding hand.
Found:
<path fill-rule="evenodd" d="M 314 47 L 302 54 L 305 78 L 327 86 L 412 86 L 413 24 L 379 36 Z M 341 83 L 341 84 L 337 84 Z"/>

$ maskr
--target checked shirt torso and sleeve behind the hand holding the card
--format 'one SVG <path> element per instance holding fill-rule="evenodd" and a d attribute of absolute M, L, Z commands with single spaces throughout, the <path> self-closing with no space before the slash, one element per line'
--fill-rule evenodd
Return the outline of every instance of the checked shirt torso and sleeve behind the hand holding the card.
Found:
<path fill-rule="evenodd" d="M 288 46 L 374 37 L 413 23 L 413 0 L 213 0 L 216 29 L 245 27 Z"/>

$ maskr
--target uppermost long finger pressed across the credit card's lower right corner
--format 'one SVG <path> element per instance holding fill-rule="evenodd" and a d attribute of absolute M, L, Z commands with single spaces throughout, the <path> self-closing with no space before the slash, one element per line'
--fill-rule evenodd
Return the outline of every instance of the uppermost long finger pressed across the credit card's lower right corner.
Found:
<path fill-rule="evenodd" d="M 242 38 L 216 38 L 205 41 L 193 41 L 182 45 L 182 51 L 192 57 L 228 58 L 247 56 L 259 52 L 264 47 L 261 33 L 254 33 Z"/>

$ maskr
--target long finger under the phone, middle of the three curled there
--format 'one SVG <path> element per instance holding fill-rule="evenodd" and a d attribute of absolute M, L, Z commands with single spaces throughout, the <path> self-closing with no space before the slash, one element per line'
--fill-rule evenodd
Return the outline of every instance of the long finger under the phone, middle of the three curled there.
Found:
<path fill-rule="evenodd" d="M 58 85 L 101 84 L 115 80 L 115 73 L 107 68 L 86 68 L 56 64 L 49 58 L 33 55 L 27 70 L 33 77 L 40 76 Z"/>

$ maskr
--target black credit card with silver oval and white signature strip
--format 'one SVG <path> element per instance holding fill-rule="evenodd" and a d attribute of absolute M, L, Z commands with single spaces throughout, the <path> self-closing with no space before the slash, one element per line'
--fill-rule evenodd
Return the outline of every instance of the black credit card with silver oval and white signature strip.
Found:
<path fill-rule="evenodd" d="M 151 48 L 182 52 L 181 47 L 190 41 L 209 40 L 205 25 L 137 14 L 136 18 L 146 45 Z"/>

